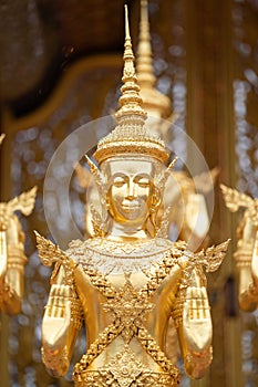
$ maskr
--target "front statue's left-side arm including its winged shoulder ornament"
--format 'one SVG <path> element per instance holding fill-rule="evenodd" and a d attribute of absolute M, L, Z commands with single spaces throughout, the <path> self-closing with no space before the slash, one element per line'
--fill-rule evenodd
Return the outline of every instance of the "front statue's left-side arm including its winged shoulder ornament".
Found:
<path fill-rule="evenodd" d="M 38 232 L 42 263 L 55 269 L 42 322 L 42 359 L 53 376 L 66 374 L 76 334 L 82 325 L 82 305 L 75 289 L 74 262 L 58 245 Z"/>

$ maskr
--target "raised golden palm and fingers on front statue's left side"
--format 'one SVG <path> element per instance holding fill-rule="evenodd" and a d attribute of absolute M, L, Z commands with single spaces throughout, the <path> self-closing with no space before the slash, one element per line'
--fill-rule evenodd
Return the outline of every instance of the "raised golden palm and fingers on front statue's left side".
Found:
<path fill-rule="evenodd" d="M 54 353 L 64 348 L 70 321 L 70 287 L 68 285 L 52 285 L 42 322 L 44 351 Z"/>

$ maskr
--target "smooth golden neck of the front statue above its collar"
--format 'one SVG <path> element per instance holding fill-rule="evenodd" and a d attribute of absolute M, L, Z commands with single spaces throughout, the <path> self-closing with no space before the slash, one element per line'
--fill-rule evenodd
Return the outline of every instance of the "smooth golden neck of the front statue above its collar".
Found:
<path fill-rule="evenodd" d="M 111 230 L 107 234 L 107 239 L 117 241 L 145 241 L 151 238 L 149 233 L 142 227 L 135 228 L 113 222 Z"/>

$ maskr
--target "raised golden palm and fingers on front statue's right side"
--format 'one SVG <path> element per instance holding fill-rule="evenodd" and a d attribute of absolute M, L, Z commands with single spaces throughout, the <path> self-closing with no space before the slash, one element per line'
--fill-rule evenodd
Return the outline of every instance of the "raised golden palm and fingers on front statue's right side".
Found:
<path fill-rule="evenodd" d="M 211 344 L 211 318 L 205 286 L 189 286 L 183 311 L 183 330 L 187 347 L 202 353 Z"/>

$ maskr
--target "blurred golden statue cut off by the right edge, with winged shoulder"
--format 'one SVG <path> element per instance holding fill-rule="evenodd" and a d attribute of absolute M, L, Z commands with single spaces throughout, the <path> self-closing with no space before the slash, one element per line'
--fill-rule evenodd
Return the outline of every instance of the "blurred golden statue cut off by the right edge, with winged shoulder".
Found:
<path fill-rule="evenodd" d="M 224 185 L 220 187 L 225 203 L 231 212 L 245 209 L 237 229 L 238 241 L 234 258 L 239 273 L 240 308 L 252 312 L 258 307 L 258 199 Z"/>

